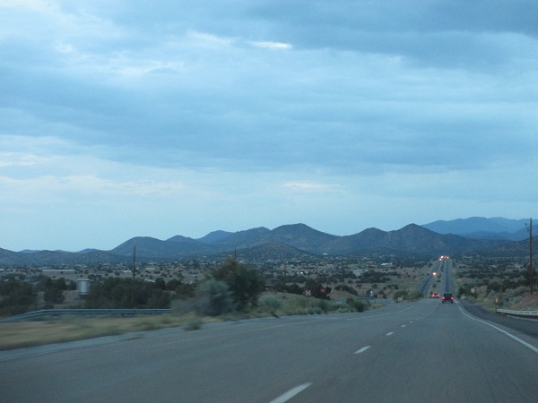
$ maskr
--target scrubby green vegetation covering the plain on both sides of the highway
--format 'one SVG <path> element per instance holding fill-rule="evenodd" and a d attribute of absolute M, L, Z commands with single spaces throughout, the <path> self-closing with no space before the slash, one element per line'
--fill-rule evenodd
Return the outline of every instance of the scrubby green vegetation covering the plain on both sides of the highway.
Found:
<path fill-rule="evenodd" d="M 303 266 L 247 265 L 234 259 L 220 264 L 190 262 L 172 275 L 166 270 L 137 270 L 133 282 L 114 271 L 90 277 L 88 296 L 78 296 L 74 279 L 9 273 L 0 280 L 0 317 L 50 308 L 172 308 L 171 313 L 134 317 L 58 316 L 0 323 L 0 349 L 36 346 L 145 330 L 183 327 L 256 317 L 363 312 L 379 298 L 395 302 L 421 298 L 414 290 L 433 262 L 381 260 Z M 495 308 L 538 309 L 529 297 L 525 262 L 514 259 L 454 259 L 457 298 Z M 102 271 L 100 271 L 102 272 Z M 157 277 L 161 275 L 162 277 Z M 153 278 L 150 278 L 153 276 Z M 438 282 L 442 273 L 438 273 Z M 66 276 L 67 277 L 67 276 Z M 436 287 L 437 284 L 434 284 Z M 536 287 L 534 287 L 536 289 Z M 306 296 L 306 291 L 310 296 Z"/>

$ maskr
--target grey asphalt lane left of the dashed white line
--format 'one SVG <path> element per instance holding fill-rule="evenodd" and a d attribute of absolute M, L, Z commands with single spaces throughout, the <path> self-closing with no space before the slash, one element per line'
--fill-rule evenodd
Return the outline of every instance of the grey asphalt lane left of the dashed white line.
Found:
<path fill-rule="evenodd" d="M 16 358 L 0 367 L 0 399 L 167 401 L 180 394 L 189 401 L 270 401 L 308 382 L 311 368 L 330 370 L 384 336 L 392 328 L 388 318 L 406 322 L 417 314 L 414 305 L 392 304 L 367 313 L 149 332 L 140 339 Z"/>

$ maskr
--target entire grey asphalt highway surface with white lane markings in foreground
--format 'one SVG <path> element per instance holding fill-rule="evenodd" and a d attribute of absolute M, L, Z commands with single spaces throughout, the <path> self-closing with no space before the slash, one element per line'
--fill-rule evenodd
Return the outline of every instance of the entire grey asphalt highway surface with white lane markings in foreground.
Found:
<path fill-rule="evenodd" d="M 0 352 L 0 401 L 538 401 L 538 322 L 510 330 L 464 306 L 428 298 Z"/>

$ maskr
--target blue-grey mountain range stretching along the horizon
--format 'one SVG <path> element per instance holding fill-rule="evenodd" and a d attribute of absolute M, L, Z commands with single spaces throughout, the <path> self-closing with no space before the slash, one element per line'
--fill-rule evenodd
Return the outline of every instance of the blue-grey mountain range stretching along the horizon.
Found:
<path fill-rule="evenodd" d="M 392 254 L 399 256 L 461 255 L 525 256 L 528 233 L 525 219 L 456 219 L 419 226 L 410 224 L 395 231 L 368 228 L 351 236 L 334 236 L 305 224 L 251 228 L 238 232 L 214 231 L 202 238 L 172 236 L 160 240 L 137 236 L 112 250 L 12 252 L 0 248 L 0 264 L 61 264 L 129 262 L 134 246 L 143 260 L 180 260 L 189 257 L 237 253 L 251 260 L 286 260 L 326 254 L 352 256 Z M 482 236 L 481 236 L 482 235 Z M 525 236 L 524 236 L 525 235 Z M 525 239 L 526 238 L 526 239 Z"/>

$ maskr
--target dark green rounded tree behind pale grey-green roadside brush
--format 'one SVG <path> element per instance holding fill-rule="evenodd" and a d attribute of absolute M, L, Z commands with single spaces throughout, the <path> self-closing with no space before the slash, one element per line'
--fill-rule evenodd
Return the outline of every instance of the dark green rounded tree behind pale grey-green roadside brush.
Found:
<path fill-rule="evenodd" d="M 235 259 L 227 259 L 221 267 L 211 270 L 210 275 L 230 287 L 231 296 L 239 311 L 256 306 L 258 296 L 265 289 L 265 280 L 259 271 L 248 268 Z"/>

